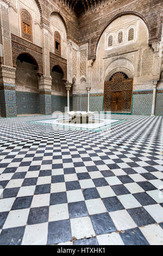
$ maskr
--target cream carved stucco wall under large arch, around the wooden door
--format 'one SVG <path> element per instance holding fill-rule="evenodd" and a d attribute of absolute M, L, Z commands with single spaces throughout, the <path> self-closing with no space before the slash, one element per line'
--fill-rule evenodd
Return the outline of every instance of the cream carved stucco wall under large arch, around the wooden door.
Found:
<path fill-rule="evenodd" d="M 129 28 L 135 36 L 128 42 Z M 123 32 L 123 44 L 117 44 L 118 32 Z M 108 47 L 108 36 L 114 36 L 114 44 Z M 121 71 L 134 78 L 134 89 L 152 86 L 153 51 L 148 46 L 148 29 L 135 15 L 124 15 L 113 21 L 98 42 L 96 60 L 92 68 L 92 93 L 103 92 L 104 80 L 110 74 Z M 147 74 L 146 74 L 147 73 Z M 145 77 L 146 74 L 146 77 Z"/>

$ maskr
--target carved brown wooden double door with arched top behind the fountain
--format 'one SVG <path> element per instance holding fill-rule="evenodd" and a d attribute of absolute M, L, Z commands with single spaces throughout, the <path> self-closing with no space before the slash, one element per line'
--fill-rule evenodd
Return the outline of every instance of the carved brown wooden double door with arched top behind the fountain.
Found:
<path fill-rule="evenodd" d="M 117 72 L 104 83 L 103 111 L 131 113 L 133 78 Z"/>

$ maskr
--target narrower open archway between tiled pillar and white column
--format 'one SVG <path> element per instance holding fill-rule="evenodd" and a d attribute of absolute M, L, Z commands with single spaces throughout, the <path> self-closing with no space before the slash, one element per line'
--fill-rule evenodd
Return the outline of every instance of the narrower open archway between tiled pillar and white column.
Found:
<path fill-rule="evenodd" d="M 64 72 L 59 65 L 53 67 L 52 72 L 52 113 L 65 112 L 67 106 L 67 92 L 63 81 Z"/>

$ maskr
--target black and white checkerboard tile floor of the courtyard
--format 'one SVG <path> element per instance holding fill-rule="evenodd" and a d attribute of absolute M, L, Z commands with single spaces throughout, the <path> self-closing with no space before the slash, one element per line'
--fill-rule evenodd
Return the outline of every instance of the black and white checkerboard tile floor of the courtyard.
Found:
<path fill-rule="evenodd" d="M 163 118 L 111 131 L 1 119 L 0 245 L 163 245 Z"/>

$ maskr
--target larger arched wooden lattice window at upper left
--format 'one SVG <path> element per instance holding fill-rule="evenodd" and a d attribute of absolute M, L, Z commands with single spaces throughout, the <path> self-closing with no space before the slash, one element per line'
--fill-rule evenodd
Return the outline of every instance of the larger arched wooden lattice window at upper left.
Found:
<path fill-rule="evenodd" d="M 22 10 L 21 21 L 22 21 L 22 37 L 29 41 L 32 41 L 32 19 L 28 11 Z"/>

